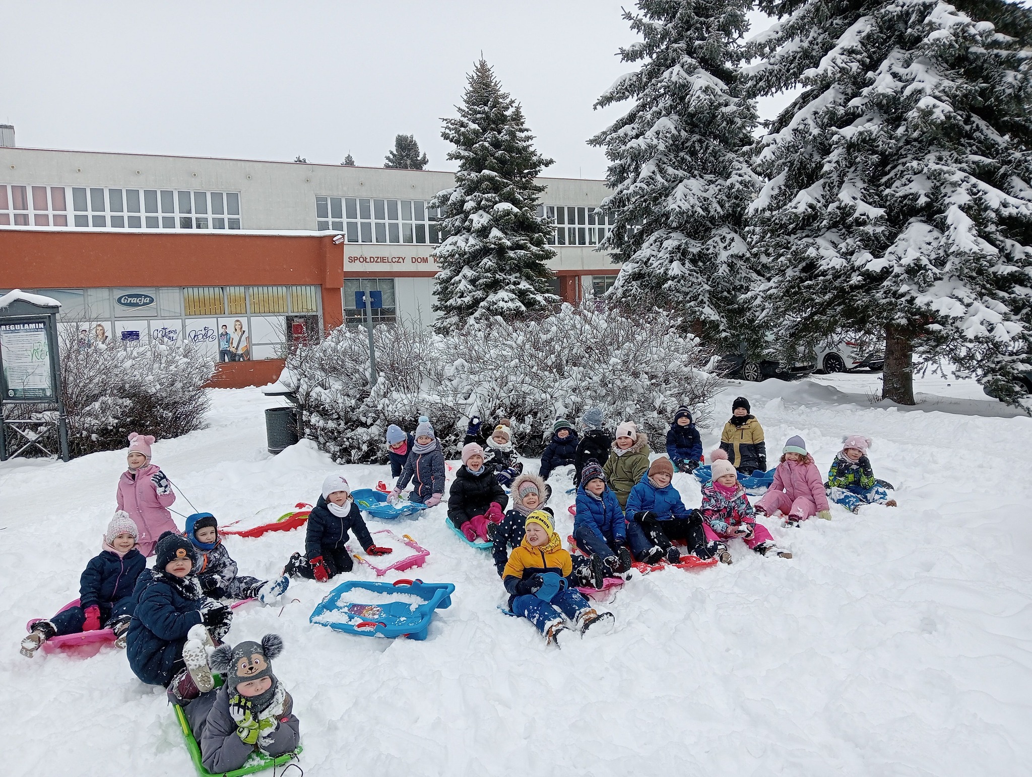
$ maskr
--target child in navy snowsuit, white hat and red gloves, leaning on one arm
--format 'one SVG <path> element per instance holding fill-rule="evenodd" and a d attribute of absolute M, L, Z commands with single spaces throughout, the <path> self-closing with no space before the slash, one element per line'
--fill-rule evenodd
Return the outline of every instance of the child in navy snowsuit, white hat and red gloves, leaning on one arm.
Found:
<path fill-rule="evenodd" d="M 319 501 L 305 523 L 304 555 L 294 553 L 283 574 L 322 583 L 342 572 L 351 572 L 355 562 L 345 547 L 349 531 L 355 532 L 355 539 L 370 556 L 391 552 L 390 548 L 377 547 L 373 542 L 362 520 L 362 512 L 351 497 L 347 479 L 335 473 L 327 475 Z"/>

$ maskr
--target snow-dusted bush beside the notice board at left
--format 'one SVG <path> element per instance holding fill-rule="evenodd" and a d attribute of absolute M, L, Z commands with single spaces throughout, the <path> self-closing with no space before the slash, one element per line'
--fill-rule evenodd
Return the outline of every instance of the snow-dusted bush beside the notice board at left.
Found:
<path fill-rule="evenodd" d="M 60 339 L 73 456 L 122 448 L 130 431 L 166 440 L 203 426 L 215 364 L 193 344 L 84 347 L 71 329 Z"/>

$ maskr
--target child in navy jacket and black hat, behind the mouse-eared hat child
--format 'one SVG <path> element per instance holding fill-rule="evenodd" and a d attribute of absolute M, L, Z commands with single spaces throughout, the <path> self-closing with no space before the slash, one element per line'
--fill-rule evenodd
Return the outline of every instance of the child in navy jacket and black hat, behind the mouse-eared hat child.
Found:
<path fill-rule="evenodd" d="M 154 566 L 136 581 L 136 610 L 126 639 L 133 674 L 164 686 L 179 701 L 211 689 L 204 646 L 225 637 L 233 619 L 226 605 L 204 595 L 198 562 L 183 535 L 166 531 L 159 538 Z"/>

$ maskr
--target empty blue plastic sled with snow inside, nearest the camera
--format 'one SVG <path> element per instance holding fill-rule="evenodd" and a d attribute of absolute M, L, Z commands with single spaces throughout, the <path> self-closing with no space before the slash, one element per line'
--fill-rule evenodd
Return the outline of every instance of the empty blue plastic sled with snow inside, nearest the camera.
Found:
<path fill-rule="evenodd" d="M 395 580 L 393 583 L 349 580 L 341 583 L 316 605 L 309 622 L 365 637 L 425 640 L 433 611 L 439 607 L 451 607 L 451 594 L 454 590 L 455 586 L 451 583 L 424 583 L 422 580 Z M 417 596 L 424 604 L 389 602 L 364 605 L 361 604 L 362 591 L 404 593 Z"/>

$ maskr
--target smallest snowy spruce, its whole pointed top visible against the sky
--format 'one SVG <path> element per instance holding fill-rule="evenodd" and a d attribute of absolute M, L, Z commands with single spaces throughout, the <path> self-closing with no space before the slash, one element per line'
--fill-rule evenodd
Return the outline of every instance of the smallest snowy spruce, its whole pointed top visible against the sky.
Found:
<path fill-rule="evenodd" d="M 438 331 L 470 318 L 512 320 L 557 303 L 549 291 L 555 256 L 548 247 L 552 226 L 537 215 L 545 187 L 535 183 L 552 164 L 535 150 L 523 110 L 502 91 L 480 60 L 467 76 L 457 119 L 445 119 L 441 136 L 455 149 L 455 187 L 430 203 L 442 209 L 448 236 L 433 252 L 441 271 L 434 281 Z"/>

